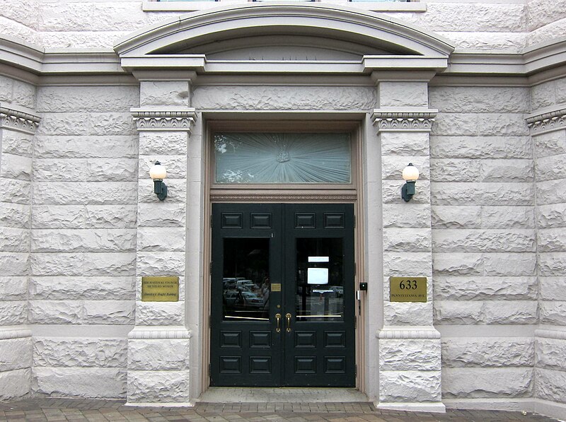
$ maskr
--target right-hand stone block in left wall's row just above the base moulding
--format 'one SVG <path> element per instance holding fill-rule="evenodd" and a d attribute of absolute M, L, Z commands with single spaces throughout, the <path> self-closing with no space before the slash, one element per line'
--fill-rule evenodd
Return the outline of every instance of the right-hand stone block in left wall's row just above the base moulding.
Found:
<path fill-rule="evenodd" d="M 85 300 L 86 324 L 134 324 L 134 300 Z"/>

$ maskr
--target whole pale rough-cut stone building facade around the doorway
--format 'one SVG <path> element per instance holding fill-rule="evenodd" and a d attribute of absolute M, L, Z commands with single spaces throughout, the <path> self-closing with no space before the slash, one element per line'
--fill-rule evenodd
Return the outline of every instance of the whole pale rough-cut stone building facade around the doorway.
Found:
<path fill-rule="evenodd" d="M 193 404 L 212 204 L 347 203 L 355 387 L 566 415 L 566 1 L 4 0 L 0 23 L 0 399 Z M 216 127 L 348 128 L 355 183 L 214 186 Z M 178 301 L 141 300 L 171 275 Z"/>

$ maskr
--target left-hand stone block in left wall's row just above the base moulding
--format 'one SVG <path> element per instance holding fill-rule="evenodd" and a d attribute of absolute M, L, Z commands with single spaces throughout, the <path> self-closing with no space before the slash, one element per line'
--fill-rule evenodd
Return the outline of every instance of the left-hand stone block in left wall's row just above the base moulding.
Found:
<path fill-rule="evenodd" d="M 83 303 L 71 300 L 30 300 L 30 324 L 78 324 L 84 321 Z"/>

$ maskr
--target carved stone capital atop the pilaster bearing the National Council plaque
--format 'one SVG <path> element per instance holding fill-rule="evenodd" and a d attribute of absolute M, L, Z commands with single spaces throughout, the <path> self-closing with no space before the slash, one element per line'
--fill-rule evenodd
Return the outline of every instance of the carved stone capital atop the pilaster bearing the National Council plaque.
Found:
<path fill-rule="evenodd" d="M 132 109 L 139 131 L 187 131 L 190 133 L 197 114 L 194 108 L 184 110 Z"/>

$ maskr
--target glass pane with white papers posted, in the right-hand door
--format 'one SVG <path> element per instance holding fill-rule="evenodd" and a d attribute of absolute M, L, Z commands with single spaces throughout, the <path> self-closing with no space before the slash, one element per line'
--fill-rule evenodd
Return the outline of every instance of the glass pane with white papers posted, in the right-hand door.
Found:
<path fill-rule="evenodd" d="M 344 319 L 342 238 L 296 239 L 296 320 Z"/>

